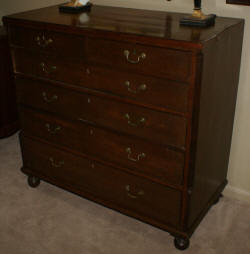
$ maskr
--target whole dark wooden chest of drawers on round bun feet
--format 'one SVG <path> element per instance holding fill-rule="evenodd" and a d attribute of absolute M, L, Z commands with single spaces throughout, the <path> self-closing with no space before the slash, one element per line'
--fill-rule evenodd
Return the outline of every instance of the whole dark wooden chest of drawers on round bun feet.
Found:
<path fill-rule="evenodd" d="M 22 171 L 189 237 L 225 187 L 244 21 L 57 6 L 4 18 Z"/>

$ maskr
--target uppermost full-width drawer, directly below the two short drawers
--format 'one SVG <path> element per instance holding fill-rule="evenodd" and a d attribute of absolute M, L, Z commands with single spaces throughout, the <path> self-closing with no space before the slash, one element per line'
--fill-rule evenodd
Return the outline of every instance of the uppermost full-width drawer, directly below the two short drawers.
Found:
<path fill-rule="evenodd" d="M 63 57 L 13 49 L 15 72 L 109 92 L 133 103 L 187 112 L 188 89 L 178 83 L 131 72 L 89 65 Z"/>

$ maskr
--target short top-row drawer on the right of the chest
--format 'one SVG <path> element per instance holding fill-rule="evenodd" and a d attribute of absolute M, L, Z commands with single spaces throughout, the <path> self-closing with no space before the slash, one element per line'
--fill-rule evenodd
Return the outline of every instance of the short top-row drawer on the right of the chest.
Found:
<path fill-rule="evenodd" d="M 88 38 L 89 62 L 136 73 L 188 81 L 191 52 Z"/>

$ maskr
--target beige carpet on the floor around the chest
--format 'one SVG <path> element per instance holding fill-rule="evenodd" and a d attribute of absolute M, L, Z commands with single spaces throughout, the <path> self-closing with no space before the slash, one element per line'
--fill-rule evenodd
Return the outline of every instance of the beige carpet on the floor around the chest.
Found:
<path fill-rule="evenodd" d="M 167 232 L 20 172 L 17 135 L 0 140 L 1 254 L 174 254 Z M 250 254 L 250 204 L 224 197 L 185 253 Z"/>

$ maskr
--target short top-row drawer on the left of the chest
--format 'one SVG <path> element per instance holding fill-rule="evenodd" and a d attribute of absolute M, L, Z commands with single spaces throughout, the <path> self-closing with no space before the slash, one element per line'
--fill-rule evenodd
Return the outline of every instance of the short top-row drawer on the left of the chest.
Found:
<path fill-rule="evenodd" d="M 84 57 L 85 37 L 47 30 L 11 27 L 9 31 L 12 46 L 49 52 L 72 58 Z"/>

